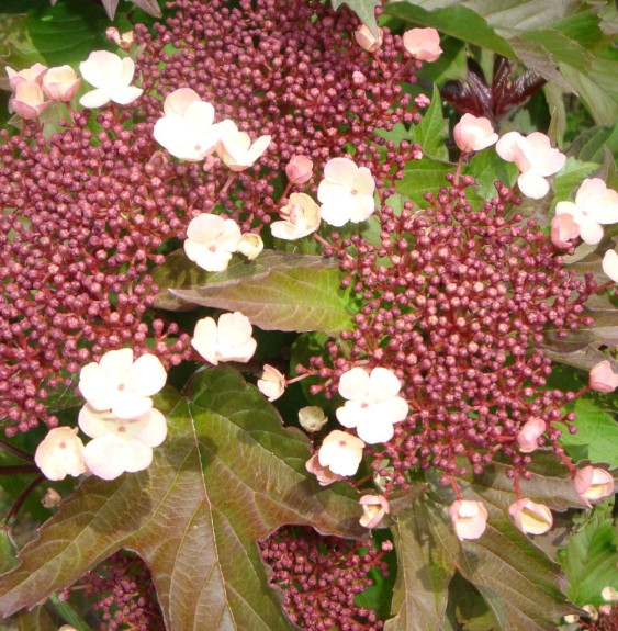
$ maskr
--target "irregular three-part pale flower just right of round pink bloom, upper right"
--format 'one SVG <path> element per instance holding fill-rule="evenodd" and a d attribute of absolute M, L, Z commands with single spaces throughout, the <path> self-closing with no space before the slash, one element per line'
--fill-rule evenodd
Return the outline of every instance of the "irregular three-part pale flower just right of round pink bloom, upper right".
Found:
<path fill-rule="evenodd" d="M 549 137 L 540 132 L 529 136 L 509 132 L 497 142 L 496 151 L 503 160 L 515 162 L 521 172 L 517 180 L 519 189 L 533 200 L 547 195 L 546 178 L 560 171 L 566 161 L 566 156 L 554 149 Z"/>

